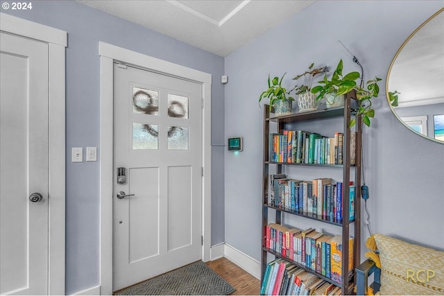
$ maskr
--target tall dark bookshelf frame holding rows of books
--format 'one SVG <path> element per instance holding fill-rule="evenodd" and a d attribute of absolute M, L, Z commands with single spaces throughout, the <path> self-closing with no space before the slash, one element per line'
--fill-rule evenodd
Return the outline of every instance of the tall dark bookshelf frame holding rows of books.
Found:
<path fill-rule="evenodd" d="M 261 261 L 261 267 L 262 267 L 262 276 L 261 276 L 261 282 L 264 278 L 264 272 L 267 265 L 267 255 L 273 254 L 275 258 L 281 258 L 286 261 L 289 261 L 290 263 L 298 266 L 299 268 L 302 268 L 303 270 L 306 270 L 307 272 L 311 272 L 314 275 L 320 277 L 321 279 L 324 279 L 325 281 L 335 284 L 336 286 L 339 286 L 341 288 L 341 294 L 342 295 L 350 295 L 353 293 L 352 286 L 353 285 L 341 285 L 333 281 L 332 279 L 325 277 L 323 275 L 319 275 L 314 270 L 311 270 L 310 268 L 307 268 L 303 265 L 298 264 L 295 261 L 289 260 L 287 257 L 282 256 L 282 254 L 275 252 L 274 250 L 271 250 L 265 246 L 265 238 L 266 238 L 266 225 L 270 223 L 270 220 L 268 220 L 268 212 L 271 212 L 273 214 L 274 211 L 274 223 L 277 223 L 279 225 L 282 225 L 282 215 L 283 214 L 289 214 L 293 216 L 299 216 L 302 218 L 306 218 L 309 220 L 316 220 L 320 223 L 327 223 L 330 225 L 334 225 L 336 227 L 339 227 L 339 231 L 337 234 L 342 235 L 342 245 L 348 246 L 348 241 L 350 237 L 354 237 L 355 243 L 353 244 L 353 261 L 354 266 L 357 266 L 360 261 L 360 237 L 361 237 L 361 230 L 360 230 L 360 224 L 361 224 L 361 218 L 360 218 L 360 190 L 358 190 L 361 187 L 361 132 L 362 132 L 362 123 L 360 118 L 356 118 L 356 162 L 354 165 L 350 164 L 350 118 L 351 116 L 355 116 L 355 110 L 352 109 L 351 105 L 354 103 L 355 99 L 355 93 L 348 93 L 345 95 L 345 104 L 343 107 L 334 107 L 334 108 L 327 108 L 327 109 L 321 109 L 321 110 L 314 110 L 309 112 L 300 112 L 295 114 L 288 114 L 288 115 L 282 115 L 282 116 L 274 116 L 274 114 L 270 111 L 270 108 L 268 105 L 264 105 L 264 158 L 263 158 L 263 182 L 262 182 L 262 261 Z M 282 132 L 287 124 L 289 123 L 296 123 L 300 121 L 318 121 L 323 119 L 330 119 L 330 118 L 339 118 L 343 119 L 343 134 L 344 134 L 344 141 L 343 141 L 343 164 L 301 164 L 301 163 L 287 163 L 287 162 L 271 162 L 269 161 L 269 134 L 270 131 L 270 123 L 275 122 L 278 123 L 278 126 L 276 128 L 277 132 Z M 320 168 L 335 168 L 335 169 L 341 169 L 343 173 L 343 202 L 342 202 L 342 213 L 349 213 L 349 194 L 350 194 L 350 184 L 348 181 L 350 181 L 350 171 L 352 171 L 352 168 L 354 168 L 354 184 L 355 188 L 355 219 L 349 220 L 348 215 L 343 215 L 343 220 L 335 220 L 333 218 L 325 217 L 325 216 L 318 216 L 317 214 L 311 214 L 306 213 L 303 211 L 297 211 L 293 209 L 287 209 L 284 207 L 276 207 L 274 204 L 268 204 L 268 177 L 269 177 L 269 171 L 270 166 L 276 166 L 276 173 L 280 174 L 282 173 L 282 168 L 284 166 L 301 166 L 301 169 L 305 169 L 307 166 L 317 166 Z M 350 234 L 350 225 L 354 223 L 354 232 L 353 235 Z M 297 227 L 297 225 L 294 225 Z M 341 282 L 342 283 L 354 283 L 355 277 L 353 275 L 353 272 L 348 271 L 348 265 L 349 265 L 349 250 L 348 247 L 343 247 L 342 252 L 342 275 L 341 275 Z M 354 268 L 353 268 L 354 270 Z"/>

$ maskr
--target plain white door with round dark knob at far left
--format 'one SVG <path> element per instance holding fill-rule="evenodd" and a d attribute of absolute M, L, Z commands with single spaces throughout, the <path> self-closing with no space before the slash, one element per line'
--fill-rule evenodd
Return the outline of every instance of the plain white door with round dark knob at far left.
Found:
<path fill-rule="evenodd" d="M 48 44 L 0 34 L 0 294 L 46 295 Z"/>

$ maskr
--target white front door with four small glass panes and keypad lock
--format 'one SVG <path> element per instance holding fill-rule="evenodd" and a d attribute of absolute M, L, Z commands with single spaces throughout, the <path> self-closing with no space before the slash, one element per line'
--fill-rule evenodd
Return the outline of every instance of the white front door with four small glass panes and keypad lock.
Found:
<path fill-rule="evenodd" d="M 114 64 L 114 290 L 202 257 L 201 98 L 200 83 Z"/>

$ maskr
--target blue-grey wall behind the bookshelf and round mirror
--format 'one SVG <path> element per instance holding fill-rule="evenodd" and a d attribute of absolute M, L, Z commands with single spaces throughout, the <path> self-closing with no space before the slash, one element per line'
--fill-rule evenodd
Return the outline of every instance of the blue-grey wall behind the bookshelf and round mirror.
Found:
<path fill-rule="evenodd" d="M 287 72 L 283 85 L 290 88 L 295 85 L 291 78 L 311 62 L 334 69 L 342 58 L 345 73 L 359 71 L 341 40 L 364 66 L 367 79 L 382 78 L 374 103 L 376 118 L 364 130 L 373 232 L 444 250 L 444 145 L 404 128 L 391 114 L 384 92 L 388 66 L 402 42 L 443 6 L 443 1 L 317 1 L 225 58 L 225 73 L 230 76 L 225 87 L 225 136 L 244 137 L 242 153 L 225 152 L 226 243 L 260 260 L 263 109 L 257 100 L 266 89 L 268 73 Z M 316 123 L 309 128 L 325 126 Z M 341 176 L 332 169 L 291 172 L 306 180 L 323 174 Z"/>

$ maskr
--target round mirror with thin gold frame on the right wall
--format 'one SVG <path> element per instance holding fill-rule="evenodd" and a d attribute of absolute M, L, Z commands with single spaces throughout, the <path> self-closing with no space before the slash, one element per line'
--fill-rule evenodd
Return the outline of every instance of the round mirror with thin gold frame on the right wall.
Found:
<path fill-rule="evenodd" d="M 398 104 L 389 92 L 398 92 Z M 422 137 L 444 143 L 444 8 L 416 29 L 388 68 L 393 114 Z"/>

